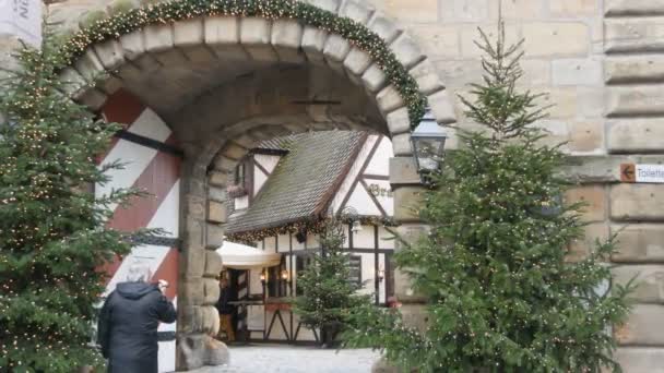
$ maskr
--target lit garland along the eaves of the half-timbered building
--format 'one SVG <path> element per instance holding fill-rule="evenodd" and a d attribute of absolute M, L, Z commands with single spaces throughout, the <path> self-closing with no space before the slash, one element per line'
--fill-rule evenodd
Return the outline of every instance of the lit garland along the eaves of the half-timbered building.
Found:
<path fill-rule="evenodd" d="M 237 233 L 227 233 L 226 238 L 233 242 L 240 243 L 254 243 L 257 241 L 261 241 L 269 237 L 276 237 L 280 234 L 288 234 L 288 233 L 313 233 L 320 234 L 330 220 L 329 217 L 325 218 L 311 218 L 308 220 L 298 220 L 285 224 L 280 227 L 264 228 L 259 230 L 251 230 L 246 232 L 237 232 Z M 351 222 L 349 219 L 342 219 L 343 222 Z M 363 226 L 379 226 L 379 227 L 396 227 L 398 224 L 391 217 L 381 217 L 381 216 L 361 216 L 359 217 L 359 222 Z"/>

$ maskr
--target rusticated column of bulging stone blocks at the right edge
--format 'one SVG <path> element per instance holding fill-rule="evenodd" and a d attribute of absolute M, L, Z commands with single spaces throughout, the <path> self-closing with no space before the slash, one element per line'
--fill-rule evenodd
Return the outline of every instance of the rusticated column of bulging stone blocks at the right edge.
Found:
<path fill-rule="evenodd" d="M 604 8 L 607 152 L 664 154 L 664 1 L 606 0 Z M 616 280 L 639 279 L 633 312 L 615 330 L 620 344 L 617 358 L 626 372 L 660 372 L 664 184 L 612 185 L 608 200 L 610 230 L 619 239 L 619 252 L 612 260 L 622 264 L 615 270 Z"/>

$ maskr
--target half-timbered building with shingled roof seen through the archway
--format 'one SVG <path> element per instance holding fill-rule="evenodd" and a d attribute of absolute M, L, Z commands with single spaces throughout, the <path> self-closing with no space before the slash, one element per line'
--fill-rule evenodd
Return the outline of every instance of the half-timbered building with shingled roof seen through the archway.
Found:
<path fill-rule="evenodd" d="M 233 205 L 227 240 L 281 254 L 272 267 L 234 270 L 238 327 L 252 340 L 315 341 L 290 310 L 298 274 L 321 252 L 319 233 L 331 215 L 346 228 L 351 278 L 384 304 L 392 294 L 389 139 L 365 132 L 327 131 L 260 143 L 238 163 L 227 193 Z M 224 255 L 222 254 L 222 262 Z"/>

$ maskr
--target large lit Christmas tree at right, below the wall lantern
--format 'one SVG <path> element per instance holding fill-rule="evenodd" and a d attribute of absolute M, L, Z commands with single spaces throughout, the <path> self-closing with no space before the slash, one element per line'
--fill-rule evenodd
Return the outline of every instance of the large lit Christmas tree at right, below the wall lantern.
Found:
<path fill-rule="evenodd" d="M 561 202 L 560 146 L 543 144 L 537 96 L 517 88 L 521 44 L 507 47 L 502 25 L 496 44 L 481 34 L 483 83 L 462 100 L 482 129 L 459 131 L 461 148 L 425 197 L 429 234 L 395 255 L 428 300 L 426 326 L 366 308 L 348 341 L 383 349 L 404 371 L 619 371 L 610 327 L 625 321 L 631 286 L 609 285 L 613 239 L 567 257 L 583 205 Z"/>

